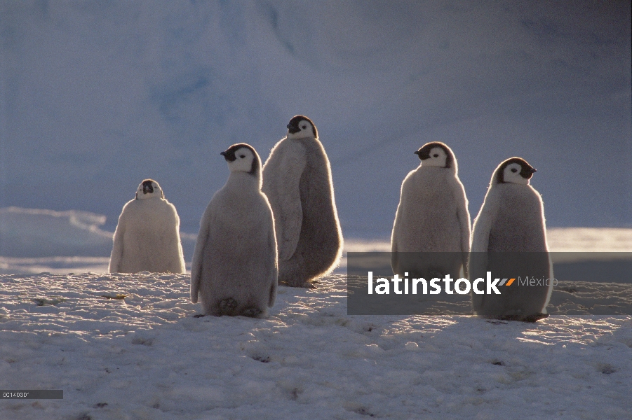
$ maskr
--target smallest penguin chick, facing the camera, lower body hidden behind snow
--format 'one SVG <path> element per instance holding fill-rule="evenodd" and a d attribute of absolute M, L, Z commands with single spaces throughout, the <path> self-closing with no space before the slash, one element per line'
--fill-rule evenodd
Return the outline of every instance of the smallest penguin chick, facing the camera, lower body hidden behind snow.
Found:
<path fill-rule="evenodd" d="M 114 232 L 108 272 L 184 273 L 180 218 L 153 179 L 145 179 L 136 198 L 123 206 Z"/>

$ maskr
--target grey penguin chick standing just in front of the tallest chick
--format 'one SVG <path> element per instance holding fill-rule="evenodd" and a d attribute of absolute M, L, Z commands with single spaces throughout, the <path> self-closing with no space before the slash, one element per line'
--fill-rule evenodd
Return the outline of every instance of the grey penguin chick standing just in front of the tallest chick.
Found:
<path fill-rule="evenodd" d="M 230 146 L 226 184 L 200 221 L 191 265 L 191 302 L 206 315 L 263 318 L 277 288 L 274 218 L 261 192 L 261 160 L 252 146 Z"/>

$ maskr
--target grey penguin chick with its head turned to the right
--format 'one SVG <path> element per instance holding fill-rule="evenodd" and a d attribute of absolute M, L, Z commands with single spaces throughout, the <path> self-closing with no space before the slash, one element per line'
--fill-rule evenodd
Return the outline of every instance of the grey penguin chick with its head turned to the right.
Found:
<path fill-rule="evenodd" d="M 473 279 L 542 279 L 535 285 L 506 282 L 500 294 L 472 293 L 476 314 L 485 318 L 530 321 L 545 318 L 551 298 L 553 265 L 546 244 L 544 204 L 529 185 L 536 170 L 522 158 L 502 162 L 494 171 L 473 226 L 469 274 Z M 485 289 L 485 288 L 483 288 Z"/>

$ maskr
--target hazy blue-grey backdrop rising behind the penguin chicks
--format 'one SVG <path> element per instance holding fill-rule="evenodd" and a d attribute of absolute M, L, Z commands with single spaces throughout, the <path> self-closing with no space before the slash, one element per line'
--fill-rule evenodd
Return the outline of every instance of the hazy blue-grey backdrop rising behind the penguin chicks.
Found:
<path fill-rule="evenodd" d="M 632 227 L 628 1 L 1 1 L 0 206 L 105 214 L 144 178 L 196 232 L 226 181 L 314 120 L 347 236 L 387 237 L 428 141 L 472 218 L 538 169 L 549 226 Z"/>

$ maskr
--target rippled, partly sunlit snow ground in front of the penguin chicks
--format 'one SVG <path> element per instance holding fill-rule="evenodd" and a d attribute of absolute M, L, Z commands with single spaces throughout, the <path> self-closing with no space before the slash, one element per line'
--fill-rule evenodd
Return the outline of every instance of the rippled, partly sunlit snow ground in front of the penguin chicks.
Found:
<path fill-rule="evenodd" d="M 632 317 L 347 316 L 344 276 L 265 320 L 194 318 L 188 277 L 0 276 L 2 419 L 629 419 Z M 115 299 L 113 297 L 121 297 Z"/>

